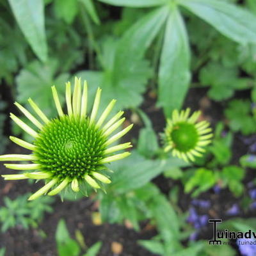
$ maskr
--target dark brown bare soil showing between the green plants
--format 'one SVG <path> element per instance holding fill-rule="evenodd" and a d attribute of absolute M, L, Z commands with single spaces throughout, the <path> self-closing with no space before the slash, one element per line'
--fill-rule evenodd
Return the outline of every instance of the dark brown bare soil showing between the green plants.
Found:
<path fill-rule="evenodd" d="M 223 120 L 223 106 L 218 102 L 212 102 L 206 95 L 205 89 L 191 89 L 188 93 L 188 97 L 184 104 L 185 107 L 189 106 L 192 110 L 202 109 L 203 116 L 211 122 L 212 125 L 216 125 L 216 122 Z M 147 93 L 146 100 L 143 103 L 142 109 L 147 113 L 149 118 L 152 120 L 152 124 L 156 132 L 162 132 L 165 125 L 163 113 L 160 109 L 155 107 L 156 99 L 154 95 Z M 10 104 L 12 100 L 8 99 Z M 6 113 L 10 112 L 10 108 L 6 109 Z M 10 124 L 6 121 L 6 124 Z M 7 125 L 9 127 L 9 125 Z M 133 137 L 138 137 L 138 131 L 140 127 L 133 129 Z M 10 135 L 10 129 L 6 129 L 6 135 Z M 9 133 L 9 134 L 8 134 Z M 234 140 L 233 154 L 234 158 L 232 162 L 237 163 L 239 157 L 243 156 L 248 152 L 248 146 L 244 145 L 241 136 L 237 136 Z M 15 145 L 9 145 L 6 153 L 10 154 L 26 154 L 24 150 L 21 152 L 20 147 Z M 7 170 L 3 164 L 0 165 L 0 173 L 11 173 L 12 171 Z M 254 172 L 248 172 L 246 180 L 250 181 L 255 177 Z M 159 186 L 163 193 L 166 195 L 175 184 L 178 184 L 180 188 L 182 185 L 180 182 L 175 182 L 170 179 L 164 179 L 162 175 L 157 177 L 154 182 Z M 42 184 L 41 184 L 42 185 Z M 39 184 L 33 186 L 28 185 L 27 181 L 10 181 L 6 182 L 0 179 L 0 206 L 3 205 L 3 196 L 9 196 L 15 198 L 18 195 L 22 195 L 31 190 L 36 191 L 39 188 Z M 211 200 L 211 209 L 207 210 L 207 214 L 211 218 L 221 218 L 226 220 L 230 218 L 227 216 L 226 211 L 232 204 L 237 202 L 237 198 L 228 191 L 223 190 L 219 195 L 209 191 L 200 196 L 207 200 Z M 180 193 L 179 201 L 180 209 L 182 211 L 188 211 L 191 197 Z M 6 247 L 6 255 L 8 256 L 57 256 L 56 252 L 56 241 L 55 232 L 58 221 L 63 218 L 68 226 L 71 236 L 74 238 L 75 231 L 78 229 L 82 232 L 84 240 L 87 246 L 91 246 L 97 241 L 102 241 L 103 246 L 99 256 L 113 256 L 111 252 L 111 243 L 116 241 L 123 245 L 122 256 L 150 256 L 153 255 L 147 250 L 144 250 L 138 245 L 138 239 L 150 239 L 150 237 L 156 235 L 156 230 L 147 228 L 147 223 L 141 224 L 141 232 L 135 232 L 132 229 L 125 227 L 125 225 L 109 225 L 107 223 L 96 226 L 92 222 L 92 212 L 95 211 L 95 202 L 90 198 L 83 198 L 74 202 L 64 201 L 61 202 L 60 198 L 56 197 L 56 202 L 52 205 L 54 212 L 47 214 L 44 221 L 36 229 L 30 228 L 24 230 L 22 227 L 16 227 L 8 230 L 4 234 L 0 234 L 0 248 Z M 204 212 L 203 212 L 204 213 Z M 255 216 L 255 212 L 241 212 L 239 216 L 246 218 Z M 46 238 L 42 238 L 40 230 L 43 230 L 47 235 Z M 204 235 L 200 235 L 200 238 L 209 239 L 212 231 L 211 227 L 203 228 Z"/>

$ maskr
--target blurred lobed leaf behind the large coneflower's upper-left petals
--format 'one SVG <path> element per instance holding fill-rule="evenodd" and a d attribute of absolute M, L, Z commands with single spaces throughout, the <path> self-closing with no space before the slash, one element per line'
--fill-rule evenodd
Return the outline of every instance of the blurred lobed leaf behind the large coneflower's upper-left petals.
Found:
<path fill-rule="evenodd" d="M 39 61 L 33 61 L 29 63 L 28 67 L 22 69 L 17 76 L 17 101 L 21 104 L 27 104 L 28 99 L 31 98 L 45 115 L 49 117 L 56 115 L 51 86 L 56 86 L 62 103 L 64 101 L 65 83 L 70 77 L 67 73 L 56 76 L 58 65 L 59 63 L 56 60 L 49 60 L 45 65 L 42 65 Z"/>

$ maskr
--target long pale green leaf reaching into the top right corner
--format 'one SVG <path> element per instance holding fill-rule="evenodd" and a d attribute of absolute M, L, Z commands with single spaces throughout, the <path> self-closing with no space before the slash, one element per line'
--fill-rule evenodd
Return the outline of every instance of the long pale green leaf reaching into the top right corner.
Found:
<path fill-rule="evenodd" d="M 256 42 L 256 17 L 252 13 L 222 0 L 180 0 L 188 8 L 228 38 Z"/>

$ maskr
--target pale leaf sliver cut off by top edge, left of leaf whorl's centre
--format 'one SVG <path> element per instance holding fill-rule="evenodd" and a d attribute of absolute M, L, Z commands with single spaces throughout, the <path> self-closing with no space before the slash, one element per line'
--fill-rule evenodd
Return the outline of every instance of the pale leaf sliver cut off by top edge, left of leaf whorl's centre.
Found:
<path fill-rule="evenodd" d="M 168 3 L 168 0 L 99 0 L 102 3 L 127 7 L 150 7 Z"/>

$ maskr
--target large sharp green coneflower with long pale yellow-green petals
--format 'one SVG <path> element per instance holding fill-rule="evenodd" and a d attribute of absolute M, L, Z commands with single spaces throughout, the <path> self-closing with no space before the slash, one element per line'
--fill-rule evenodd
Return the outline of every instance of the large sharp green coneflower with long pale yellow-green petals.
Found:
<path fill-rule="evenodd" d="M 50 189 L 52 190 L 48 195 L 56 195 L 68 184 L 75 192 L 79 191 L 79 186 L 83 182 L 98 189 L 101 187 L 100 182 L 106 184 L 111 182 L 102 173 L 103 170 L 108 170 L 104 164 L 122 159 L 130 154 L 129 152 L 113 153 L 132 147 L 131 143 L 109 147 L 132 127 L 131 124 L 112 135 L 125 120 L 125 118 L 121 118 L 124 112 L 119 111 L 108 122 L 105 122 L 116 100 L 111 100 L 102 115 L 96 118 L 101 94 L 101 89 L 98 88 L 89 116 L 87 115 L 88 91 L 86 81 L 83 84 L 83 93 L 81 87 L 81 79 L 76 77 L 72 97 L 71 84 L 70 82 L 66 83 L 68 115 L 65 115 L 56 88 L 52 86 L 52 95 L 58 111 L 58 117 L 52 120 L 49 120 L 31 99 L 28 102 L 40 120 L 15 102 L 20 111 L 38 128 L 38 131 L 11 113 L 12 120 L 35 140 L 33 140 L 33 144 L 13 136 L 10 136 L 10 140 L 21 147 L 28 148 L 32 154 L 4 155 L 0 156 L 0 161 L 31 161 L 32 163 L 29 164 L 4 165 L 14 170 L 33 170 L 33 172 L 2 176 L 5 180 L 44 179 L 47 182 L 45 186 L 31 195 L 29 200 L 44 195 Z"/>

